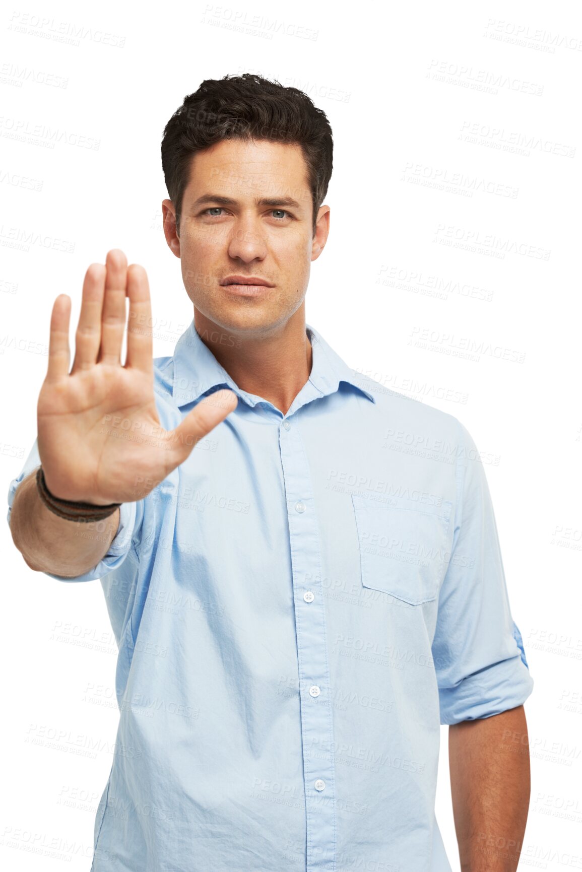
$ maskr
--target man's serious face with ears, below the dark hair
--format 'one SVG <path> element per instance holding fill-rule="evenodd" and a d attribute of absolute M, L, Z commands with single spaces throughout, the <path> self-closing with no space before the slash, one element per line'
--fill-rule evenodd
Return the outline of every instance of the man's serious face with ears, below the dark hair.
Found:
<path fill-rule="evenodd" d="M 259 202 L 265 199 L 270 202 Z M 312 194 L 300 147 L 269 140 L 223 140 L 193 156 L 179 238 L 174 204 L 163 201 L 162 212 L 195 309 L 247 336 L 277 329 L 298 310 L 311 262 L 329 232 L 329 208 L 322 206 L 312 235 Z M 229 290 L 229 276 L 259 277 L 270 287 Z"/>

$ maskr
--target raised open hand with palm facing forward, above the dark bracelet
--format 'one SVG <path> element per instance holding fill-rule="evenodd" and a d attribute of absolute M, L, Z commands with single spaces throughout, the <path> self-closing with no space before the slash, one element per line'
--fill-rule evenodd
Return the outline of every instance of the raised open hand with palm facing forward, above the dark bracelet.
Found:
<path fill-rule="evenodd" d="M 127 359 L 121 364 L 126 296 Z M 71 298 L 60 294 L 52 307 L 48 370 L 37 410 L 46 486 L 62 500 L 99 506 L 140 500 L 234 411 L 236 394 L 217 391 L 175 430 L 161 428 L 146 270 L 128 267 L 120 249 L 107 253 L 105 265 L 92 263 L 86 271 L 69 372 L 70 317 Z M 144 438 L 124 438 L 127 434 Z"/>

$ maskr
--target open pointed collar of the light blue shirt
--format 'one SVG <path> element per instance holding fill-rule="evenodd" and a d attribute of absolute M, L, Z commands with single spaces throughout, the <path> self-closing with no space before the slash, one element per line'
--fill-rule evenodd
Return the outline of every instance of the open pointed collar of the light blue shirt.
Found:
<path fill-rule="evenodd" d="M 318 330 L 311 324 L 305 324 L 305 330 L 312 343 L 312 371 L 309 380 L 321 396 L 336 392 L 339 383 L 346 382 L 375 403 L 373 394 L 358 384 L 356 372 L 333 351 Z M 181 334 L 175 345 L 172 396 L 178 406 L 188 405 L 202 394 L 220 387 L 229 387 L 247 405 L 254 406 L 261 401 L 255 394 L 243 391 L 230 378 L 212 351 L 202 342 L 192 318 L 187 330 Z"/>

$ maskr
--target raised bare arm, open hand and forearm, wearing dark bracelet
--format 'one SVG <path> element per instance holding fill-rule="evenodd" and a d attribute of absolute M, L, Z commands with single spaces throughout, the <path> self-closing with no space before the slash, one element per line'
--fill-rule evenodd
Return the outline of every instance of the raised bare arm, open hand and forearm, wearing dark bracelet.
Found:
<path fill-rule="evenodd" d="M 37 406 L 38 460 L 46 487 L 58 499 L 123 507 L 146 497 L 186 460 L 199 439 L 236 408 L 236 394 L 218 391 L 174 430 L 160 426 L 152 332 L 140 326 L 152 318 L 146 271 L 128 267 L 119 249 L 108 252 L 105 265 L 86 271 L 69 371 L 71 303 L 59 294 L 52 306 L 48 368 Z M 116 508 L 90 523 L 59 518 L 38 495 L 36 472 L 16 491 L 10 488 L 13 542 L 31 569 L 76 580 L 105 557 L 127 512 Z M 122 555 L 116 557 L 120 562 Z"/>

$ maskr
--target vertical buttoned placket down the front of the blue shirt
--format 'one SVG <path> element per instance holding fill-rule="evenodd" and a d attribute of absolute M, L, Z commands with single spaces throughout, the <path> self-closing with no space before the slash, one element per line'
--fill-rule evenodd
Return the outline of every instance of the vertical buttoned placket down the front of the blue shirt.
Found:
<path fill-rule="evenodd" d="M 321 550 L 312 482 L 297 415 L 279 427 L 287 518 L 291 538 L 297 630 L 301 736 L 307 824 L 306 872 L 334 872 L 335 773 Z M 305 579 L 309 578 L 309 589 Z M 318 579 L 314 581 L 313 579 Z"/>

